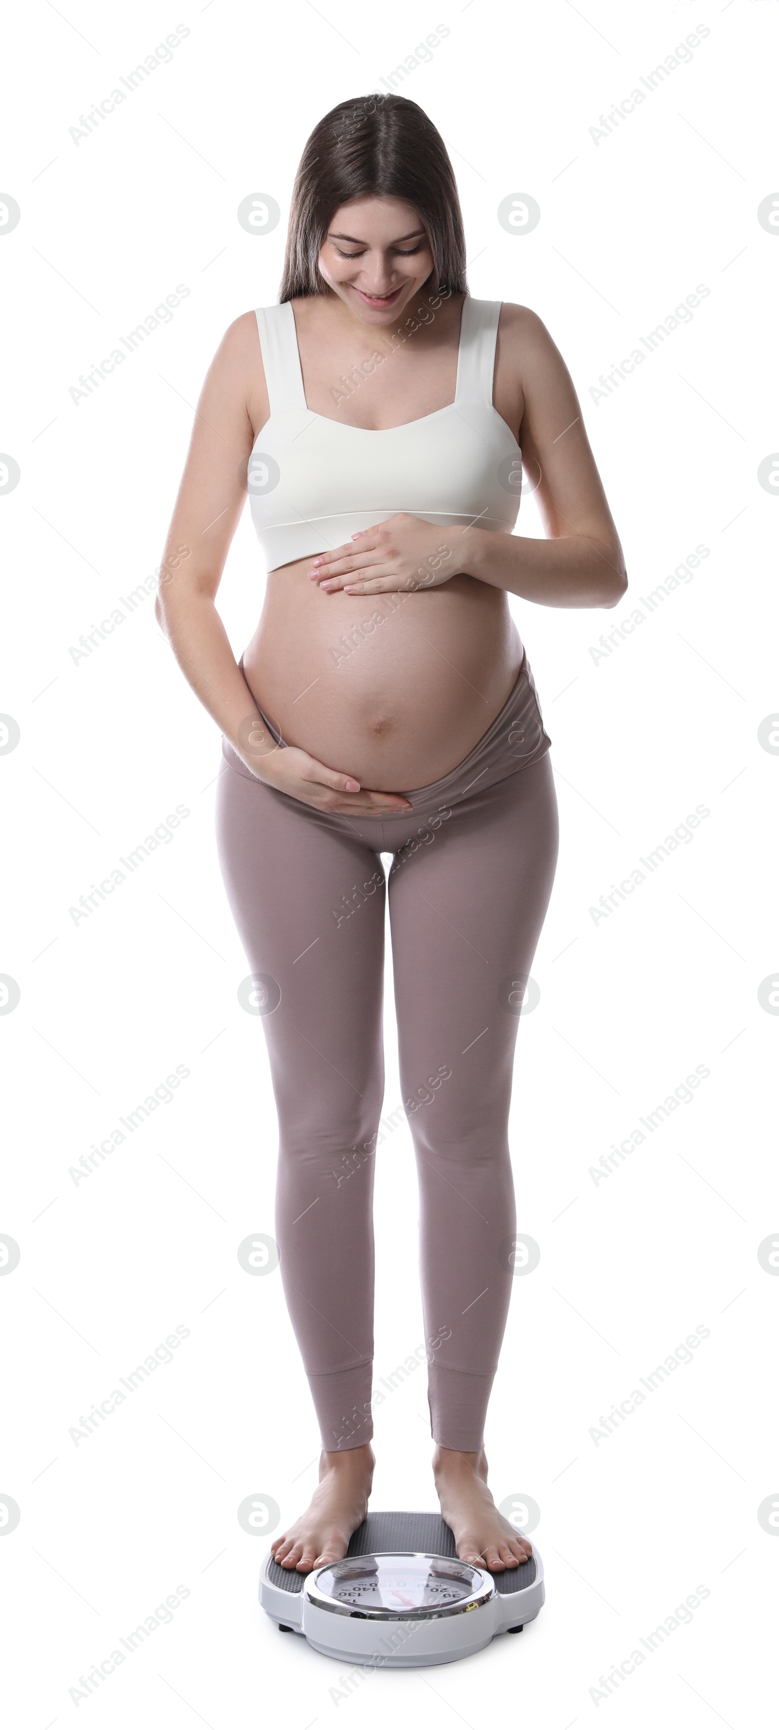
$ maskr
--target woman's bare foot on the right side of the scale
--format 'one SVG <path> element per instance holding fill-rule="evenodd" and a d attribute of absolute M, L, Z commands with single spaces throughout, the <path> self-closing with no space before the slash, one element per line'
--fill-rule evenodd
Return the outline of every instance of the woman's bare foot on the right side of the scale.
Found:
<path fill-rule="evenodd" d="M 435 1448 L 434 1477 L 440 1512 L 454 1533 L 461 1562 L 473 1562 L 491 1574 L 518 1567 L 532 1555 L 532 1543 L 522 1538 L 497 1512 L 487 1490 L 487 1455 Z"/>

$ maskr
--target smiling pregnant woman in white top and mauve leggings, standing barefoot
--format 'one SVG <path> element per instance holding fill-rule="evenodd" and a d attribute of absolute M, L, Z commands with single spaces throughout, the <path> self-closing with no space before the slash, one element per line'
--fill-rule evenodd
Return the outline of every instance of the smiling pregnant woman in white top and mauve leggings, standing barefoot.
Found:
<path fill-rule="evenodd" d="M 511 535 L 522 464 L 548 540 Z M 268 588 L 237 664 L 216 592 L 247 491 Z M 532 1550 L 484 1455 L 516 1017 L 558 855 L 508 593 L 611 607 L 625 583 L 554 343 L 525 306 L 468 294 L 440 135 L 397 95 L 340 104 L 302 154 L 280 303 L 237 318 L 207 374 L 157 600 L 223 734 L 219 860 L 264 1017 L 280 1266 L 321 1429 L 283 1567 L 345 1555 L 371 1488 L 385 896 L 435 1488 L 465 1560 Z"/>

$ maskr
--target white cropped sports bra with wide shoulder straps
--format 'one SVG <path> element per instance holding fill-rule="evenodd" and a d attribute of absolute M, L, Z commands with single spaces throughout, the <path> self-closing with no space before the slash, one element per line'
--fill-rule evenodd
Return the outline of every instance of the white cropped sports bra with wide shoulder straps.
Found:
<path fill-rule="evenodd" d="M 269 419 L 247 488 L 268 571 L 342 547 L 397 510 L 511 533 L 522 452 L 492 407 L 501 301 L 466 294 L 454 401 L 399 427 L 354 427 L 306 405 L 292 303 L 257 306 Z M 390 356 L 389 356 L 390 358 Z"/>

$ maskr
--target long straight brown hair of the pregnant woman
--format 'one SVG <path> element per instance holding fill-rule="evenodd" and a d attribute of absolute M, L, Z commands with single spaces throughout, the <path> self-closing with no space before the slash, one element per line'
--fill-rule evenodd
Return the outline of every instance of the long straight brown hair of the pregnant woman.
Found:
<path fill-rule="evenodd" d="M 437 292 L 466 294 L 465 230 L 446 144 L 408 97 L 377 92 L 339 102 L 306 142 L 292 190 L 280 303 L 326 294 L 318 258 L 335 211 L 358 197 L 408 199 L 430 239 Z"/>

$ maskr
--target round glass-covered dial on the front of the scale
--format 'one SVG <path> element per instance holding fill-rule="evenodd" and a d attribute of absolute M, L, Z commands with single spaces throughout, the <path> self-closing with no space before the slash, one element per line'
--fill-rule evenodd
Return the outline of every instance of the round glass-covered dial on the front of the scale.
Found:
<path fill-rule="evenodd" d="M 307 1597 L 321 1609 L 377 1621 L 453 1616 L 485 1604 L 494 1592 L 492 1576 L 480 1567 L 411 1550 L 349 1555 L 306 1581 Z"/>

